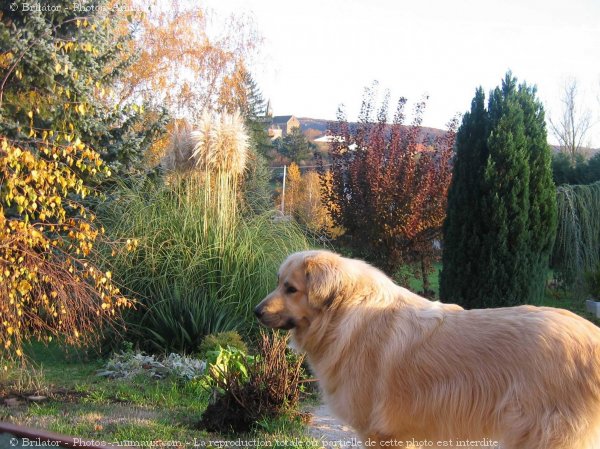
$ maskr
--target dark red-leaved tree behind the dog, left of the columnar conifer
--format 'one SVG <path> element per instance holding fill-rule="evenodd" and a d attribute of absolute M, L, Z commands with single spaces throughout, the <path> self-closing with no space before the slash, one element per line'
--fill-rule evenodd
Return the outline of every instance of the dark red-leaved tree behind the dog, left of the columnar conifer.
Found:
<path fill-rule="evenodd" d="M 451 178 L 454 127 L 441 137 L 426 139 L 421 128 L 424 102 L 415 108 L 410 126 L 403 126 L 406 99 L 398 102 L 387 123 L 388 99 L 373 117 L 376 89 L 367 89 L 359 121 L 348 123 L 343 113 L 333 128 L 332 186 L 325 203 L 348 243 L 394 274 L 412 264 L 428 289 L 441 237 L 446 192 Z"/>

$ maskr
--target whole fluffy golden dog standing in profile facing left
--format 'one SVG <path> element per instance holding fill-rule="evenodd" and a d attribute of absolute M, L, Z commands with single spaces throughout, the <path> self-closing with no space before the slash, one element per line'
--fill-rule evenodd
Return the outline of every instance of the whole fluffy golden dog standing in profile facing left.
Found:
<path fill-rule="evenodd" d="M 600 449 L 600 330 L 566 310 L 464 310 L 327 251 L 256 308 L 289 329 L 365 447 Z"/>

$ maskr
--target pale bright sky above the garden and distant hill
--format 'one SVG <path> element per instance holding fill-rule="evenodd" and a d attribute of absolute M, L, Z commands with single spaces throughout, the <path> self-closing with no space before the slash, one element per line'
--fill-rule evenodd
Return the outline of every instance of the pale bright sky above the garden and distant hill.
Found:
<path fill-rule="evenodd" d="M 574 79 L 600 147 L 600 0 L 204 0 L 216 16 L 252 18 L 263 37 L 251 71 L 275 115 L 355 120 L 374 80 L 392 104 L 429 97 L 425 126 L 444 128 L 478 86 L 507 70 L 561 113 Z M 393 108 L 391 108 L 393 109 Z M 549 141 L 556 139 L 549 135 Z"/>

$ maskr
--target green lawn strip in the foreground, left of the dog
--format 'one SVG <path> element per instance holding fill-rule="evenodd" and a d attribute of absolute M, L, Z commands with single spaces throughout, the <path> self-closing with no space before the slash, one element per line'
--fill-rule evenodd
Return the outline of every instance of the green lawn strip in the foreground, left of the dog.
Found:
<path fill-rule="evenodd" d="M 300 418 L 268 420 L 248 435 L 199 430 L 196 424 L 209 394 L 198 382 L 98 377 L 101 360 L 74 350 L 64 353 L 56 346 L 33 345 L 28 354 L 40 368 L 29 375 L 12 371 L 0 378 L 0 421 L 96 441 L 181 443 L 163 447 L 210 447 L 211 441 L 218 447 L 219 442 L 238 438 L 270 442 L 256 447 L 318 447 L 305 436 Z M 34 393 L 47 399 L 28 401 Z M 278 441 L 282 443 L 277 446 Z"/>

